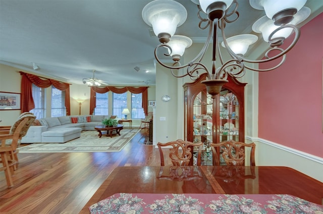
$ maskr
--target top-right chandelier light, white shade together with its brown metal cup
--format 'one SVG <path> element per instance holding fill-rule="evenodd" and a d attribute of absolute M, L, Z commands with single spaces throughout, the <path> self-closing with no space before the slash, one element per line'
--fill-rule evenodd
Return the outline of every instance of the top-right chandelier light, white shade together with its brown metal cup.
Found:
<path fill-rule="evenodd" d="M 307 0 L 249 0 L 251 7 L 264 10 L 266 16 L 276 25 L 291 22 L 294 15 L 305 5 Z"/>

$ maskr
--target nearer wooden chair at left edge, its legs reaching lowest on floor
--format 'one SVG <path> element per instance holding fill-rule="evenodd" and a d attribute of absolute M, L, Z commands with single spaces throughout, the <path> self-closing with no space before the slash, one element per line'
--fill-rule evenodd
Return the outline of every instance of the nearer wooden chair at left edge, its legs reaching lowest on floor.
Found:
<path fill-rule="evenodd" d="M 2 167 L 0 167 L 0 171 L 5 171 L 8 187 L 14 186 L 12 175 L 14 174 L 14 169 L 17 163 L 14 157 L 14 151 L 17 149 L 20 133 L 22 129 L 25 127 L 25 125 L 28 123 L 29 118 L 23 118 L 22 120 L 18 120 L 18 121 L 19 123 L 16 126 L 13 134 L 0 135 L 0 140 L 1 140 L 0 163 L 2 164 Z M 8 139 L 12 140 L 10 145 L 6 144 L 6 140 Z"/>

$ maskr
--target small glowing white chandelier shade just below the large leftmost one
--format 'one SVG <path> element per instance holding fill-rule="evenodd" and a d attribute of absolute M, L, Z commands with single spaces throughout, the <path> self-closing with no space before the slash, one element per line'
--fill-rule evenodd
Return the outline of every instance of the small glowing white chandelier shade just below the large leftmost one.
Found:
<path fill-rule="evenodd" d="M 171 53 L 171 56 L 179 55 L 182 57 L 185 48 L 188 48 L 192 45 L 192 39 L 187 36 L 174 35 L 170 38 L 170 41 L 167 44 L 172 48 L 172 53 L 168 48 L 168 52 Z"/>

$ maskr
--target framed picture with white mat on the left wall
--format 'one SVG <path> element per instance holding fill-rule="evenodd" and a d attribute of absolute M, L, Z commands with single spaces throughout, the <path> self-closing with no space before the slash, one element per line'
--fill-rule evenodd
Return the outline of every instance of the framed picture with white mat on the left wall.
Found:
<path fill-rule="evenodd" d="M 0 110 L 20 110 L 21 94 L 0 91 Z"/>

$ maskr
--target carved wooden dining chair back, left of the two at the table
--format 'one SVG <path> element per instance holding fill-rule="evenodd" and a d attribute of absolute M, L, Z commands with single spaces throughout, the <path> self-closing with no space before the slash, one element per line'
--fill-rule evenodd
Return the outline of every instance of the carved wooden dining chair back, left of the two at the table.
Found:
<path fill-rule="evenodd" d="M 170 147 L 169 157 L 171 158 L 173 166 L 189 166 L 192 158 L 192 148 L 198 147 L 197 166 L 201 166 L 201 153 L 203 143 L 193 143 L 190 141 L 176 140 L 167 143 L 157 143 L 160 154 L 160 165 L 165 166 L 163 147 Z"/>

